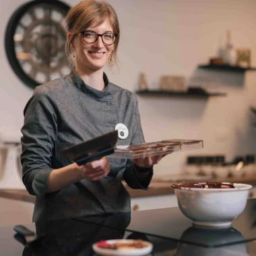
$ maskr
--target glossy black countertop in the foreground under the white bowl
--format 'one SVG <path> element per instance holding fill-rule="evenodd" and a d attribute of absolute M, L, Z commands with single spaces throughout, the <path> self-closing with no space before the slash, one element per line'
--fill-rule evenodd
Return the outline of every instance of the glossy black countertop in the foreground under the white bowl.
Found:
<path fill-rule="evenodd" d="M 38 239 L 25 247 L 13 227 L 0 227 L 0 255 L 88 255 L 92 244 L 113 238 L 141 238 L 154 245 L 151 255 L 255 255 L 256 199 L 228 228 L 197 228 L 179 207 L 88 216 L 25 224 Z"/>

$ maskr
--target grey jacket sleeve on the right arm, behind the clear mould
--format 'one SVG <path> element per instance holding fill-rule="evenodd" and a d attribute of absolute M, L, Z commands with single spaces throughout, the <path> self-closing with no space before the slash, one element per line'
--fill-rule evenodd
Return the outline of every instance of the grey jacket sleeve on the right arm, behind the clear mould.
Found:
<path fill-rule="evenodd" d="M 134 115 L 135 115 L 135 122 L 133 124 L 133 137 L 131 139 L 131 144 L 140 144 L 145 143 L 145 139 L 143 136 L 143 131 L 141 128 L 141 120 L 139 116 L 139 108 L 138 108 L 138 102 L 135 94 L 133 95 L 133 106 L 134 106 Z M 138 181 L 136 177 L 136 168 L 140 168 L 139 166 L 135 167 L 135 164 L 131 160 L 127 160 L 125 172 L 123 175 L 123 179 L 131 187 L 131 189 L 148 189 L 148 186 L 150 185 L 150 182 L 152 181 L 153 177 L 153 168 L 148 168 L 149 174 L 146 175 L 145 179 L 143 181 Z M 142 168 L 145 170 L 145 168 Z"/>

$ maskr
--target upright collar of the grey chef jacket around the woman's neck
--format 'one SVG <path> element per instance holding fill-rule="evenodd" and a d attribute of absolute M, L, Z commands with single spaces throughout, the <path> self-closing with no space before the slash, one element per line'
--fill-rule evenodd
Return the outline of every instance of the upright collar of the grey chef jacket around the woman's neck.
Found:
<path fill-rule="evenodd" d="M 112 94 L 109 92 L 109 82 L 108 77 L 106 76 L 106 73 L 103 72 L 103 80 L 104 84 L 106 85 L 106 88 L 104 88 L 103 91 L 96 90 L 90 86 L 88 86 L 84 80 L 77 75 L 75 71 L 71 71 L 70 73 L 72 82 L 77 86 L 82 92 L 85 92 L 86 94 L 90 94 L 91 96 L 94 96 L 96 98 L 105 98 L 106 100 L 112 99 Z"/>

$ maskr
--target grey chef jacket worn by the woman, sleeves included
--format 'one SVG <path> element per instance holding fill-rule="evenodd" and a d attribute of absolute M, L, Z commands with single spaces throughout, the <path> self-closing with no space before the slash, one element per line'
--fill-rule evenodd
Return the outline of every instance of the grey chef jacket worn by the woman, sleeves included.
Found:
<path fill-rule="evenodd" d="M 46 193 L 51 171 L 72 162 L 61 149 L 115 129 L 123 123 L 129 130 L 117 145 L 144 142 L 135 94 L 108 82 L 96 90 L 74 71 L 70 75 L 37 86 L 24 109 L 22 127 L 22 180 L 36 195 L 33 221 L 57 220 L 96 214 L 131 211 L 130 196 L 121 183 L 132 189 L 148 189 L 153 170 L 145 181 L 135 176 L 131 160 L 108 158 L 110 172 L 100 181 L 82 179 L 54 193 Z"/>

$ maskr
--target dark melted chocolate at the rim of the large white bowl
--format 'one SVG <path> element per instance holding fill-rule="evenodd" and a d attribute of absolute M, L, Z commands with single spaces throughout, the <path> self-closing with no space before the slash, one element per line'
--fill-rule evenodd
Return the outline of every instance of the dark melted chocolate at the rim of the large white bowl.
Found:
<path fill-rule="evenodd" d="M 191 187 L 194 189 L 234 189 L 233 183 L 221 183 L 221 182 L 193 182 L 193 183 L 176 183 L 172 184 L 174 189 L 180 189 L 181 187 Z"/>

